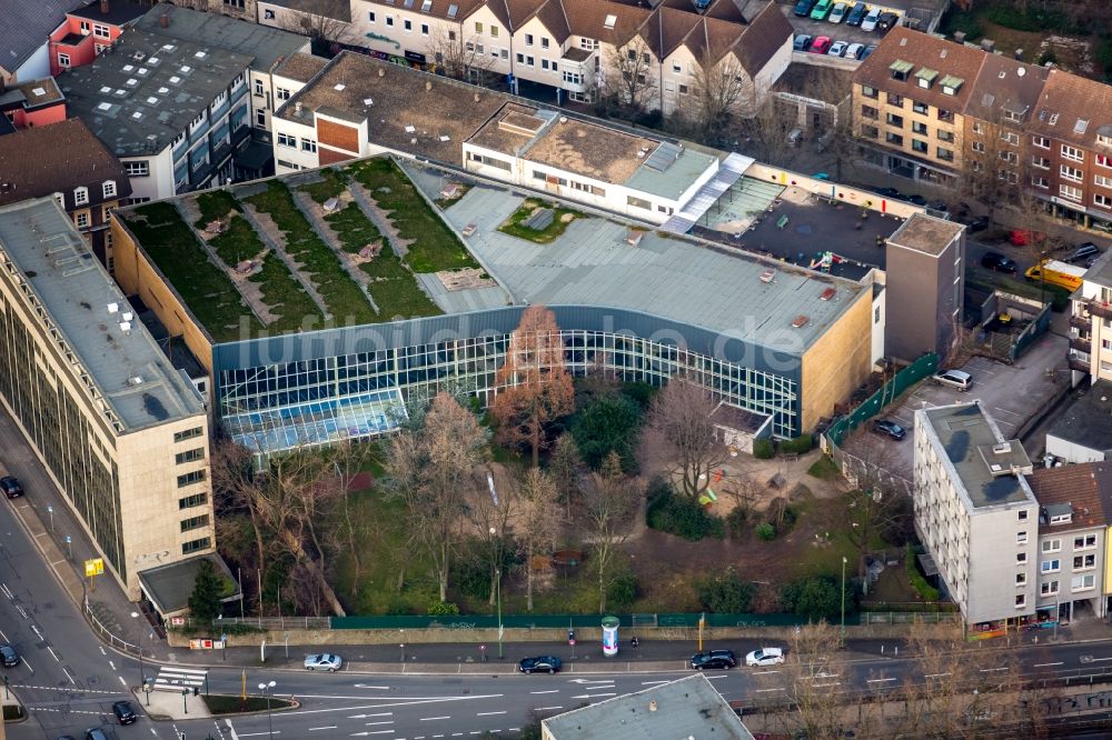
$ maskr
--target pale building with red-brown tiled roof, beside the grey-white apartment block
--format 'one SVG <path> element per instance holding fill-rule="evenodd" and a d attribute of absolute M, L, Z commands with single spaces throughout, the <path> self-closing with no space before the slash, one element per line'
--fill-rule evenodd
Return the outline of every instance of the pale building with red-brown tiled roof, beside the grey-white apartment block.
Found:
<path fill-rule="evenodd" d="M 1104 500 L 1112 497 L 1112 477 L 1098 477 L 1090 463 L 1039 468 L 1027 482 L 1039 501 L 1040 612 L 1050 621 L 1104 617 Z"/>

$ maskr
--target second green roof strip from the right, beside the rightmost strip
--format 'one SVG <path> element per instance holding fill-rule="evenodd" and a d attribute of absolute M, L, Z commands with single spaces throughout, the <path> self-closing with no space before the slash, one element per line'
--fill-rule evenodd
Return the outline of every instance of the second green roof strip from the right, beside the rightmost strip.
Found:
<path fill-rule="evenodd" d="M 383 251 L 375 259 L 359 266 L 375 281 L 369 290 L 375 303 L 381 309 L 380 320 L 396 316 L 411 318 L 441 313 L 358 204 L 348 203 L 344 210 L 326 216 L 325 220 L 340 238 L 344 250 L 353 254 L 367 244 L 383 244 Z"/>

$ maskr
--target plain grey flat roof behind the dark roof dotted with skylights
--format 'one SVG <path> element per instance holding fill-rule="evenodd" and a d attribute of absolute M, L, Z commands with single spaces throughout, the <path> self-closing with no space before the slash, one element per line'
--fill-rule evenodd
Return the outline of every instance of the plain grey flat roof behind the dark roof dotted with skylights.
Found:
<path fill-rule="evenodd" d="M 169 19 L 167 28 L 161 27 L 162 16 Z M 259 72 L 269 72 L 276 62 L 298 51 L 307 51 L 309 46 L 309 39 L 298 33 L 166 3 L 155 6 L 136 22 L 136 28 L 179 41 L 255 57 L 251 69 Z"/>

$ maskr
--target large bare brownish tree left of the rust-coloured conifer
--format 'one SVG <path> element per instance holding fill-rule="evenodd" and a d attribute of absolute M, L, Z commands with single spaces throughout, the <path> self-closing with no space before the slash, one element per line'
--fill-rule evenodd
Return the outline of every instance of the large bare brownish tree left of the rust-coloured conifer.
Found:
<path fill-rule="evenodd" d="M 464 491 L 485 454 L 486 434 L 475 416 L 445 392 L 433 399 L 421 429 L 404 431 L 390 440 L 389 483 L 406 504 L 414 543 L 433 560 L 440 601 L 448 597 Z"/>

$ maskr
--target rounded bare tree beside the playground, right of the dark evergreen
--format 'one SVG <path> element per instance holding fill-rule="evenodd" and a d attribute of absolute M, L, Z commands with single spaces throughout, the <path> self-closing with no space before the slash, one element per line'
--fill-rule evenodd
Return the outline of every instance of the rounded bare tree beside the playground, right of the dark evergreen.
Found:
<path fill-rule="evenodd" d="M 697 499 L 711 484 L 711 473 L 725 460 L 726 448 L 715 437 L 711 414 L 718 402 L 704 387 L 673 378 L 653 401 L 648 428 L 676 453 L 681 490 Z"/>

